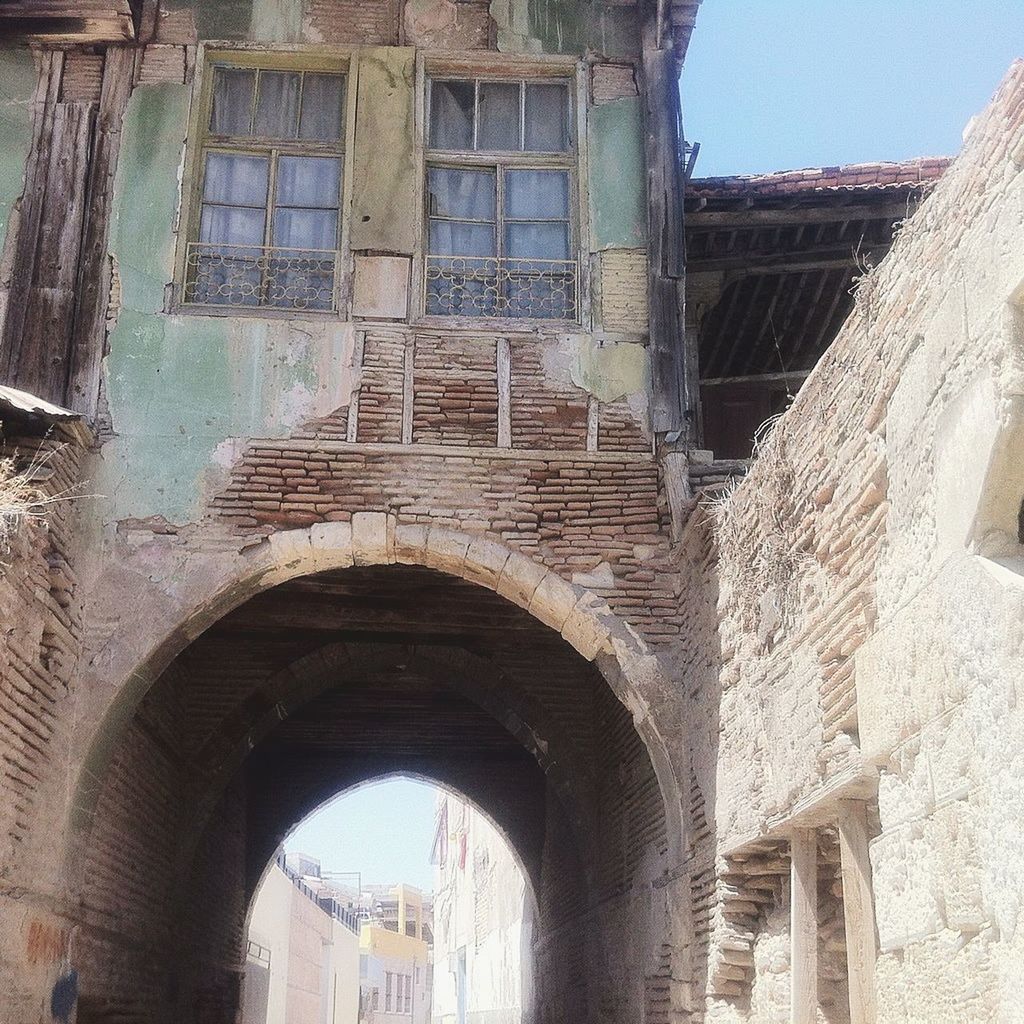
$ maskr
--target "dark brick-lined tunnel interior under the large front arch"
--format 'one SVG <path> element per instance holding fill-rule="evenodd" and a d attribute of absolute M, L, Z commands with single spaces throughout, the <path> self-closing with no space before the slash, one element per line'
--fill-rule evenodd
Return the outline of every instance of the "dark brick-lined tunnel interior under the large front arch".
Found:
<path fill-rule="evenodd" d="M 117 737 L 79 847 L 80 1024 L 233 1021 L 246 908 L 282 839 L 395 772 L 465 794 L 515 847 L 538 898 L 537 1019 L 638 1019 L 669 837 L 631 715 L 497 593 L 364 565 L 229 611 Z"/>

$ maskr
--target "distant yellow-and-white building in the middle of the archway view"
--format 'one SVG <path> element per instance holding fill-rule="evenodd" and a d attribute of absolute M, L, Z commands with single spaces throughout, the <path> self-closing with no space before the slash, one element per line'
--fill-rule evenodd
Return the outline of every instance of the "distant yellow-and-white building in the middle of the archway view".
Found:
<path fill-rule="evenodd" d="M 364 921 L 359 931 L 360 1024 L 427 1024 L 431 1015 L 431 949 L 424 936 L 423 894 L 395 886 L 378 900 L 387 915 Z"/>

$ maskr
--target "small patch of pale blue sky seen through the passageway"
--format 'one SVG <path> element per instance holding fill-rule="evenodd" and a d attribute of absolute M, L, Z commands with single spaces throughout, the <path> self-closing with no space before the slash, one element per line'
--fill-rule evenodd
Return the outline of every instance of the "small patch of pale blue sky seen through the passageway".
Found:
<path fill-rule="evenodd" d="M 362 884 L 433 888 L 433 786 L 390 779 L 342 796 L 306 818 L 285 843 L 325 871 L 359 871 Z"/>

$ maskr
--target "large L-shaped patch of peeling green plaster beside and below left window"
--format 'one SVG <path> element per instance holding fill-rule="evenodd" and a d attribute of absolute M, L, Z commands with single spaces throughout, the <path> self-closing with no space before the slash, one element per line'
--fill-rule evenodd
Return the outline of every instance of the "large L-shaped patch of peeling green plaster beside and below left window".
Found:
<path fill-rule="evenodd" d="M 344 325 L 161 311 L 187 115 L 186 87 L 154 85 L 125 118 L 111 234 L 121 307 L 105 364 L 117 436 L 88 486 L 104 521 L 191 521 L 241 454 L 234 438 L 286 436 L 349 399 Z"/>

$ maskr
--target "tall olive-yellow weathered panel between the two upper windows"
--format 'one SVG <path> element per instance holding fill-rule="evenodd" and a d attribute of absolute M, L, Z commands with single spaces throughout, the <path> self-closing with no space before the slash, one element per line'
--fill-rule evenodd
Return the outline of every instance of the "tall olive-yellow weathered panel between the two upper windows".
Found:
<path fill-rule="evenodd" d="M 412 254 L 420 220 L 414 148 L 416 51 L 384 46 L 364 50 L 358 88 L 351 246 Z"/>

